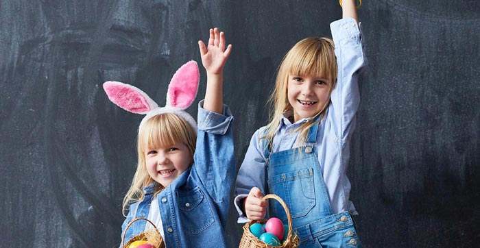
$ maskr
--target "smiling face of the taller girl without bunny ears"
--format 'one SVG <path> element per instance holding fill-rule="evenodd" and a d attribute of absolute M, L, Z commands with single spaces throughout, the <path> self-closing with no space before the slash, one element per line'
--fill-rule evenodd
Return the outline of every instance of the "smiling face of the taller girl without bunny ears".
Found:
<path fill-rule="evenodd" d="M 289 75 L 287 96 L 295 121 L 314 116 L 324 108 L 330 99 L 330 84 L 321 77 Z"/>

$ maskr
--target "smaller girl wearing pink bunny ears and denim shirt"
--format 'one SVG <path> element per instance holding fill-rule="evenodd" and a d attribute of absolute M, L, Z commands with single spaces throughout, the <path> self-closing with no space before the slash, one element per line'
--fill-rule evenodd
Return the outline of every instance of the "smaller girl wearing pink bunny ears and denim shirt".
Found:
<path fill-rule="evenodd" d="M 147 218 L 160 230 L 166 247 L 226 246 L 235 158 L 233 117 L 223 104 L 222 85 L 232 46 L 225 48 L 225 35 L 215 28 L 210 30 L 208 47 L 202 41 L 199 47 L 207 85 L 205 100 L 198 106 L 198 127 L 184 111 L 197 94 L 196 62 L 187 62 L 173 75 L 164 108 L 134 86 L 104 84 L 117 106 L 147 114 L 139 126 L 136 172 L 123 199 L 123 212 L 128 209 L 128 215 L 122 233 L 132 219 Z M 149 225 L 134 222 L 126 230 L 125 243 Z"/>

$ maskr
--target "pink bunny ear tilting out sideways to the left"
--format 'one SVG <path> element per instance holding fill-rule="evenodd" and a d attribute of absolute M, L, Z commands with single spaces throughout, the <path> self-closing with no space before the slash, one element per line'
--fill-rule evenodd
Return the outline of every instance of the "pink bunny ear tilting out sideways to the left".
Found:
<path fill-rule="evenodd" d="M 104 83 L 104 90 L 110 101 L 128 112 L 147 114 L 150 110 L 158 107 L 158 104 L 145 92 L 130 84 L 108 81 Z"/>

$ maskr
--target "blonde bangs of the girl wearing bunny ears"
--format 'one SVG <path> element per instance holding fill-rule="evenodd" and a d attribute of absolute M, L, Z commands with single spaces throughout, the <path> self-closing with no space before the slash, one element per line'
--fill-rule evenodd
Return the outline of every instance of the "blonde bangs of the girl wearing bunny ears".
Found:
<path fill-rule="evenodd" d="M 175 143 L 183 143 L 193 154 L 196 138 L 194 134 L 193 128 L 176 114 L 158 114 L 149 119 L 142 126 L 142 130 L 139 130 L 139 146 L 145 152 L 147 149 L 171 147 Z"/>

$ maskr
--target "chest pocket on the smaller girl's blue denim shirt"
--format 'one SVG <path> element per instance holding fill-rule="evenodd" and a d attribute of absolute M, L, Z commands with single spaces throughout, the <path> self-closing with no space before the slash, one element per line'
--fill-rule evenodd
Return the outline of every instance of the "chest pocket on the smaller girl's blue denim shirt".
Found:
<path fill-rule="evenodd" d="M 199 234 L 215 221 L 210 203 L 198 187 L 178 191 L 178 204 L 181 227 L 186 234 Z"/>

